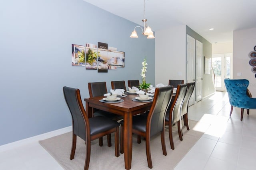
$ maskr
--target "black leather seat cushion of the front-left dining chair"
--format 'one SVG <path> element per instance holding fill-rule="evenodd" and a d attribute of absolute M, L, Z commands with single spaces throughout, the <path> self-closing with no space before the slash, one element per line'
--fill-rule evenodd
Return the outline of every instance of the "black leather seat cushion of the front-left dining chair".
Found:
<path fill-rule="evenodd" d="M 107 117 L 97 116 L 89 119 L 90 123 L 90 135 L 96 135 L 98 133 L 107 131 L 114 127 L 118 127 L 120 123 L 108 119 Z"/>

